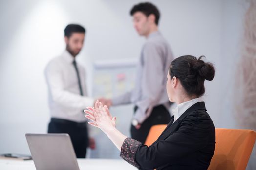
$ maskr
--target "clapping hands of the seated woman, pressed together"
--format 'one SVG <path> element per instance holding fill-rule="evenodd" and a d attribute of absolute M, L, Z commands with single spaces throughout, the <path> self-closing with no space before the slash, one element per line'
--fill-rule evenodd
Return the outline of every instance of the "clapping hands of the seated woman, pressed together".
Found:
<path fill-rule="evenodd" d="M 94 108 L 87 107 L 84 110 L 85 117 L 90 119 L 90 125 L 100 128 L 105 134 L 111 132 L 116 126 L 116 117 L 112 117 L 107 106 L 103 106 L 101 102 L 95 102 Z"/>

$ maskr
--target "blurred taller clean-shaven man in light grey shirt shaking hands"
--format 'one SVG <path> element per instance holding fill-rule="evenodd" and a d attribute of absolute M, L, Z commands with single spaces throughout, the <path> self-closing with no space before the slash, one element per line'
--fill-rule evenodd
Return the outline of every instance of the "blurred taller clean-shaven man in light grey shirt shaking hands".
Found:
<path fill-rule="evenodd" d="M 158 31 L 160 13 L 151 3 L 139 3 L 130 11 L 140 36 L 146 37 L 136 73 L 135 87 L 117 98 L 104 99 L 107 106 L 135 104 L 131 137 L 145 142 L 151 126 L 168 124 L 170 102 L 166 93 L 166 75 L 173 60 L 171 48 Z"/>

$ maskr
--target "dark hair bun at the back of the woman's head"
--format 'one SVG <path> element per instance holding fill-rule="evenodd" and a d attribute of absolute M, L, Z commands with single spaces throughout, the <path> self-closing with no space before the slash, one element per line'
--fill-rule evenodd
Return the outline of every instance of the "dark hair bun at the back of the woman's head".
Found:
<path fill-rule="evenodd" d="M 196 68 L 199 72 L 199 75 L 203 77 L 205 80 L 211 81 L 215 76 L 214 66 L 212 63 L 205 63 L 203 60 L 201 60 L 202 57 L 205 56 L 200 56 L 197 62 L 194 64 L 193 68 Z"/>

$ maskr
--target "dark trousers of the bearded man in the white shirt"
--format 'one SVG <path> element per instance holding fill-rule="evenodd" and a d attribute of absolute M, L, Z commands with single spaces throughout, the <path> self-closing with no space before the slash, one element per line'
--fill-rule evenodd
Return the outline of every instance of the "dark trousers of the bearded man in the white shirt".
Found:
<path fill-rule="evenodd" d="M 52 118 L 48 133 L 67 133 L 72 141 L 76 157 L 85 158 L 86 148 L 88 146 L 87 123 L 77 123 L 65 119 Z"/>

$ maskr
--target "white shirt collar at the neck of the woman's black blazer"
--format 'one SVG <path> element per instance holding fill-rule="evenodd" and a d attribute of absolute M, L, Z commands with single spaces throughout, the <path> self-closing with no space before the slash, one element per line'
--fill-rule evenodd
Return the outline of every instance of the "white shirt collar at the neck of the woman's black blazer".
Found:
<path fill-rule="evenodd" d="M 197 102 L 203 102 L 203 97 L 195 98 L 187 102 L 183 102 L 177 105 L 176 108 L 172 109 L 172 113 L 174 116 L 173 123 L 179 119 L 179 117 L 186 111 L 188 108 L 190 108 L 192 105 L 194 105 Z"/>

